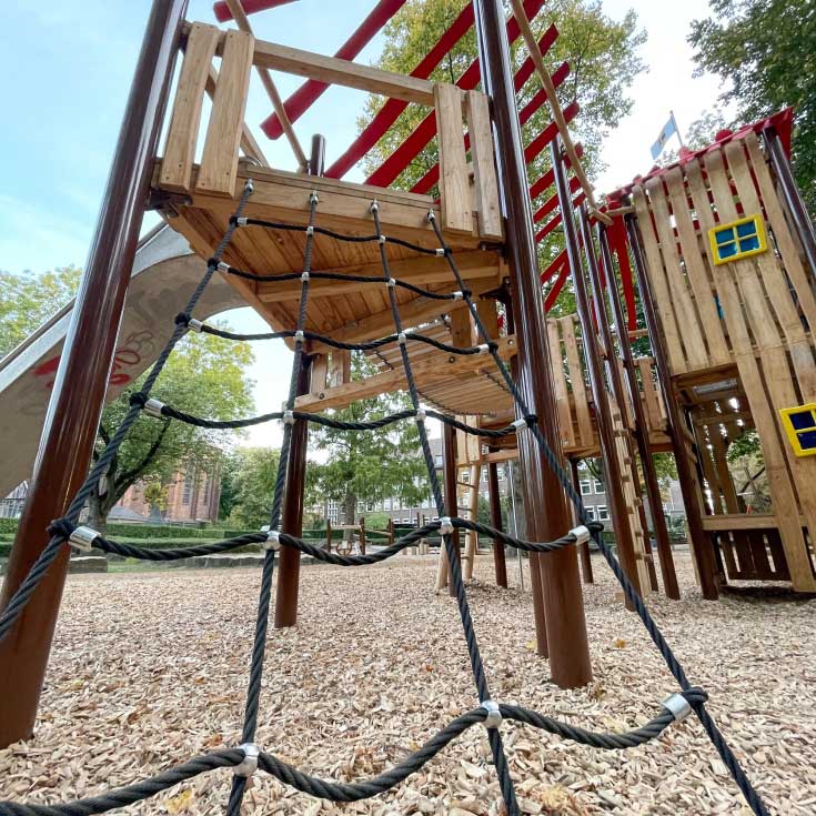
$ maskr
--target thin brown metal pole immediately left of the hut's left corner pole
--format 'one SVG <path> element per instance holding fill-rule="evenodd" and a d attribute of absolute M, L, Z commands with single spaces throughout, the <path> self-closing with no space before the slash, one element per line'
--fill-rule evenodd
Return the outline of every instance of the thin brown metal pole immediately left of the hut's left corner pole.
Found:
<path fill-rule="evenodd" d="M 623 311 L 621 293 L 617 290 L 617 282 L 612 268 L 612 252 L 610 251 L 608 235 L 606 234 L 606 228 L 603 224 L 598 224 L 597 236 L 607 275 L 606 291 L 610 304 L 612 305 L 612 314 L 615 319 L 615 325 L 617 326 L 617 343 L 621 350 L 621 355 L 623 356 L 623 365 L 629 384 L 632 407 L 635 412 L 635 441 L 637 443 L 637 452 L 641 456 L 643 477 L 646 483 L 646 495 L 648 496 L 648 506 L 652 511 L 652 524 L 655 528 L 655 541 L 657 542 L 657 552 L 661 560 L 661 575 L 663 575 L 663 590 L 667 597 L 671 597 L 674 601 L 679 601 L 681 592 L 679 585 L 677 584 L 677 573 L 674 566 L 672 542 L 668 537 L 668 527 L 666 526 L 666 516 L 663 513 L 661 486 L 657 482 L 655 463 L 652 459 L 652 451 L 648 446 L 646 412 L 643 410 L 643 403 L 641 402 L 641 389 L 637 384 L 637 374 L 635 373 L 635 357 L 632 354 L 632 343 L 629 342 L 629 335 L 626 331 L 626 315 Z"/>

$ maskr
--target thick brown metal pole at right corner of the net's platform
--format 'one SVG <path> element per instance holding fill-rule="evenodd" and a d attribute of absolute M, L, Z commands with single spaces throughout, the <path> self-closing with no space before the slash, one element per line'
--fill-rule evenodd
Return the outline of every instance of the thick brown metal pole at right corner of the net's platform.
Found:
<path fill-rule="evenodd" d="M 518 389 L 538 417 L 542 435 L 563 461 L 504 10 L 501 0 L 476 0 L 473 8 L 482 83 L 493 100 L 498 183 L 506 216 L 518 340 Z M 532 433 L 520 434 L 518 456 L 528 498 L 527 535 L 538 541 L 563 535 L 572 525 L 566 496 Z M 562 688 L 586 685 L 592 679 L 592 665 L 576 548 L 570 546 L 548 553 L 540 564 L 551 676 Z M 541 644 L 542 636 L 537 639 Z"/>

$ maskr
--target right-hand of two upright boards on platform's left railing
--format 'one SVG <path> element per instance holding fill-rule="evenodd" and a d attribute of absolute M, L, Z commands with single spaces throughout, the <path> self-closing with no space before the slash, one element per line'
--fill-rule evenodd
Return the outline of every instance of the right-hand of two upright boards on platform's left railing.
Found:
<path fill-rule="evenodd" d="M 254 38 L 245 31 L 228 31 L 225 37 L 195 189 L 199 192 L 232 195 L 238 175 L 238 152 Z"/>

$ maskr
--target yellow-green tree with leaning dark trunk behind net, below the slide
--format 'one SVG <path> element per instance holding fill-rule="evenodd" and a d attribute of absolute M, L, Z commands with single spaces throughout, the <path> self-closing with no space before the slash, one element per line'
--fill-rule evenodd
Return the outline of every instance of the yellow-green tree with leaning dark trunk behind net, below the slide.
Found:
<path fill-rule="evenodd" d="M 222 328 L 225 324 L 219 324 Z M 253 355 L 246 343 L 235 343 L 211 334 L 182 340 L 164 366 L 151 396 L 190 414 L 215 420 L 233 420 L 253 407 L 253 382 L 245 369 Z M 110 441 L 130 407 L 130 396 L 141 390 L 147 372 L 102 412 L 94 461 Z M 174 420 L 142 414 L 133 424 L 99 490 L 89 500 L 89 523 L 104 530 L 113 505 L 137 482 L 148 482 L 152 506 L 161 507 L 161 487 L 180 469 L 189 474 L 211 467 L 221 456 L 223 432 L 194 427 Z M 160 485 L 157 493 L 152 487 Z"/>

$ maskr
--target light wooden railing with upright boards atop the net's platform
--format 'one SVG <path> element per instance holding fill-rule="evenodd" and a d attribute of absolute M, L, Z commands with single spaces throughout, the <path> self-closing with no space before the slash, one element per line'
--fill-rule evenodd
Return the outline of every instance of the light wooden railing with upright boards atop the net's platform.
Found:
<path fill-rule="evenodd" d="M 185 33 L 184 60 L 159 177 L 162 189 L 188 194 L 234 195 L 241 150 L 254 158 L 261 154 L 243 122 L 250 73 L 255 66 L 433 107 L 437 123 L 443 229 L 501 240 L 498 187 L 485 94 L 264 42 L 248 31 L 222 31 L 195 22 L 187 26 Z M 218 72 L 212 66 L 216 57 L 221 58 Z M 195 172 L 206 92 L 212 97 L 212 108 Z"/>

